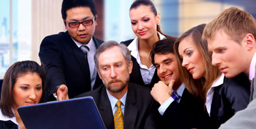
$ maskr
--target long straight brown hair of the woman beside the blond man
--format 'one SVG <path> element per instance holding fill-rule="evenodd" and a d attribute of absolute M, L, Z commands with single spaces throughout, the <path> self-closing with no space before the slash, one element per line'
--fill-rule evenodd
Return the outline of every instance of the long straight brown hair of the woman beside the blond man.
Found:
<path fill-rule="evenodd" d="M 184 86 L 188 91 L 197 97 L 201 97 L 201 99 L 206 99 L 206 93 L 208 89 L 212 86 L 212 83 L 216 78 L 221 75 L 220 70 L 217 66 L 212 65 L 212 54 L 208 52 L 208 45 L 206 40 L 202 40 L 202 34 L 205 24 L 198 25 L 197 27 L 193 27 L 192 29 L 184 32 L 178 40 L 175 42 L 175 55 L 178 62 L 178 71 L 180 72 L 180 77 L 184 82 Z M 199 53 L 203 56 L 203 62 L 205 63 L 205 78 L 202 76 L 199 79 L 193 79 L 193 76 L 189 73 L 189 71 L 182 67 L 182 58 L 180 58 L 180 54 L 178 54 L 178 45 L 180 41 L 184 40 L 191 36 L 193 39 L 193 43 L 197 46 Z"/>

